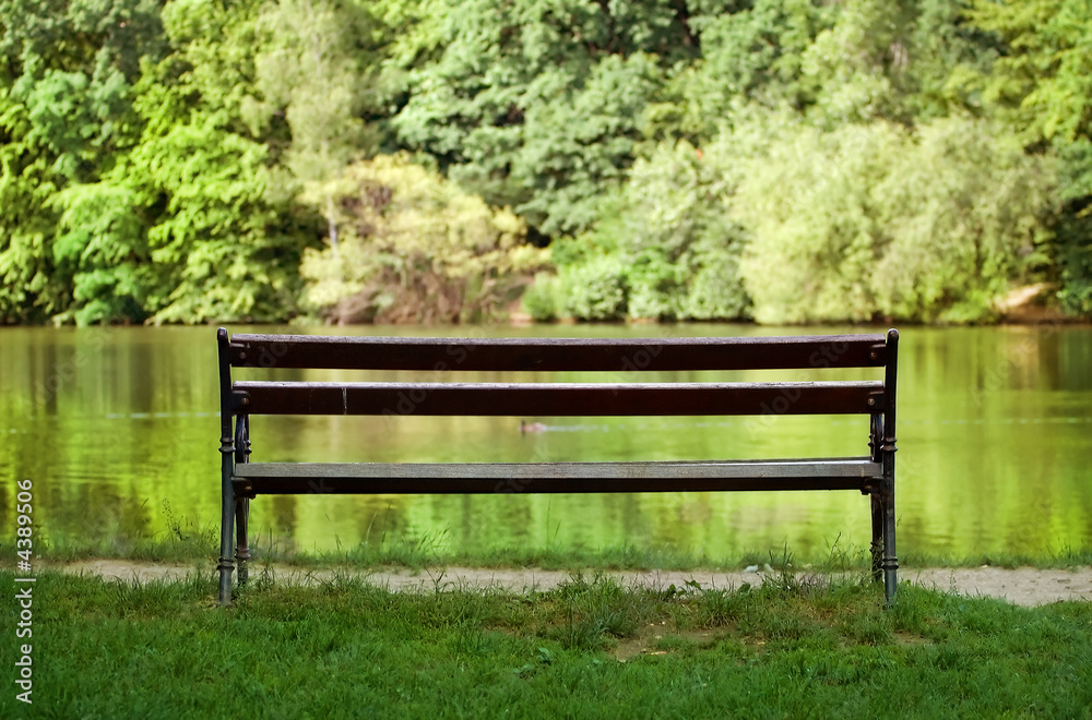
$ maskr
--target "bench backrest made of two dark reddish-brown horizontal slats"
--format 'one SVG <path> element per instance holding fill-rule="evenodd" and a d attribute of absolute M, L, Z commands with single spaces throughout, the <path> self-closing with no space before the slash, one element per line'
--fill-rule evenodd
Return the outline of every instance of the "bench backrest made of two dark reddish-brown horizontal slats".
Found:
<path fill-rule="evenodd" d="M 235 335 L 222 331 L 222 412 L 235 415 L 882 415 L 894 428 L 898 333 L 546 339 Z M 232 382 L 232 368 L 601 371 L 609 383 Z M 639 383 L 645 371 L 883 368 L 882 381 Z"/>

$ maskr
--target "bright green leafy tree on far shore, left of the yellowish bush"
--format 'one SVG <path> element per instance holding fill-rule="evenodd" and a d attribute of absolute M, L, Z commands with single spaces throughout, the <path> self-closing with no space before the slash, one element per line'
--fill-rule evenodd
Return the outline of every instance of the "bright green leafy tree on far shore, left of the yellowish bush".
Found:
<path fill-rule="evenodd" d="M 147 68 L 138 88 L 144 133 L 120 175 L 152 216 L 156 322 L 271 321 L 296 310 L 300 253 L 318 232 L 276 191 L 268 148 L 246 121 L 260 7 L 173 3 L 165 21 L 179 50 Z"/>

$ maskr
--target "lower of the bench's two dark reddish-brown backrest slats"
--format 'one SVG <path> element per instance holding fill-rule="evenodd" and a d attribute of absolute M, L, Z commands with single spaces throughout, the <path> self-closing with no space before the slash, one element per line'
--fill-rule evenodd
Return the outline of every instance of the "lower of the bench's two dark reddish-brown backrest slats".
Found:
<path fill-rule="evenodd" d="M 251 415 L 724 416 L 847 415 L 883 407 L 883 384 L 827 383 L 235 383 Z"/>

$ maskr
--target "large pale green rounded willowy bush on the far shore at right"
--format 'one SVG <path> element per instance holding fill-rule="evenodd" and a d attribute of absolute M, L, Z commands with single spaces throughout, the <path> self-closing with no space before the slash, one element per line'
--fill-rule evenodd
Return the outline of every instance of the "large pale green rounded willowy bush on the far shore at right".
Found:
<path fill-rule="evenodd" d="M 1052 173 L 989 123 L 790 123 L 779 137 L 734 206 L 753 232 L 741 273 L 760 322 L 988 320 L 1041 260 Z"/>

